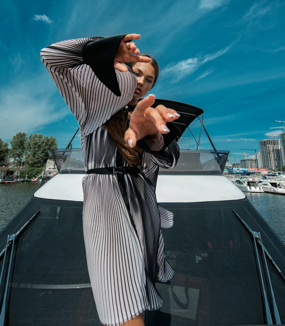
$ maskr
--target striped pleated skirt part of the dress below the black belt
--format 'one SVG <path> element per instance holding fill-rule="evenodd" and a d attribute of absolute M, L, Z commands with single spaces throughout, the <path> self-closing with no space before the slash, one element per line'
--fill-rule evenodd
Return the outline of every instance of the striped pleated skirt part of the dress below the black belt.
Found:
<path fill-rule="evenodd" d="M 142 175 L 123 177 L 126 193 L 117 175 L 89 174 L 83 179 L 87 266 L 99 318 L 112 326 L 162 305 L 155 288 L 157 263 L 161 281 L 173 276 L 160 230 L 160 215 L 170 227 L 171 213 L 160 214 L 154 188 Z"/>

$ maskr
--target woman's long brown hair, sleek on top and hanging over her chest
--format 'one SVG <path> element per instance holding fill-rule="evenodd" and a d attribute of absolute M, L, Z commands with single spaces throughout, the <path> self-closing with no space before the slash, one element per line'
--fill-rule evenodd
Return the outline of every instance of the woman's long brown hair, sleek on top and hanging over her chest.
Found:
<path fill-rule="evenodd" d="M 159 74 L 159 67 L 157 61 L 148 54 L 141 54 L 142 56 L 146 56 L 151 58 L 150 64 L 154 68 L 155 78 L 151 88 L 157 81 Z M 133 67 L 135 62 L 131 62 L 131 66 Z M 126 120 L 123 114 L 123 110 L 120 110 L 115 115 L 113 115 L 106 123 L 105 128 L 108 134 L 112 137 L 115 142 L 119 152 L 124 157 L 129 166 L 134 167 L 141 164 L 142 159 L 142 150 L 139 149 L 138 146 L 130 147 L 124 141 L 125 131 L 127 130 Z"/>

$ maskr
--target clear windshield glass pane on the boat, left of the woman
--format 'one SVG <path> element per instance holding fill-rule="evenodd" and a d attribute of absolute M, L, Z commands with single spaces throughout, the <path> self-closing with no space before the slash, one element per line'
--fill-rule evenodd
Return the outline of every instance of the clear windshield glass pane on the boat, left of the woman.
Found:
<path fill-rule="evenodd" d="M 51 150 L 59 173 L 86 173 L 81 148 Z"/>

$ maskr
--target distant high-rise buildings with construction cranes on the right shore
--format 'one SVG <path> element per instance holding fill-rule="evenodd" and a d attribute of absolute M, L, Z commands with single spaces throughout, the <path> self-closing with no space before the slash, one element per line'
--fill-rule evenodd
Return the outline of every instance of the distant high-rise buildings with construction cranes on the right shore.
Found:
<path fill-rule="evenodd" d="M 285 132 L 280 134 L 280 139 L 264 139 L 259 141 L 259 149 L 243 148 L 246 152 L 233 153 L 244 155 L 244 158 L 237 163 L 228 163 L 228 168 L 243 168 L 250 170 L 267 169 L 280 170 L 285 165 Z M 254 151 L 253 155 L 247 154 L 248 151 Z M 247 157 L 249 156 L 249 157 Z"/>

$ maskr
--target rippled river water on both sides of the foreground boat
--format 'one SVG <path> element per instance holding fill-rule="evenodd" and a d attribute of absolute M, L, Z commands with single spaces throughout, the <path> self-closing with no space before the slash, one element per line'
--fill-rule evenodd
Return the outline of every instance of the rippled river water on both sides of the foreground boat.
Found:
<path fill-rule="evenodd" d="M 0 231 L 32 197 L 39 185 L 39 182 L 0 185 Z M 267 193 L 245 194 L 271 228 L 285 240 L 285 196 Z"/>

